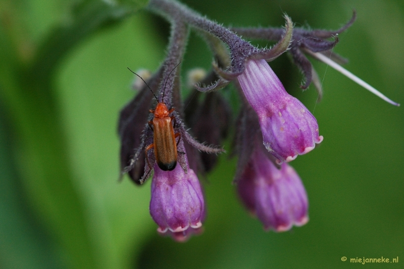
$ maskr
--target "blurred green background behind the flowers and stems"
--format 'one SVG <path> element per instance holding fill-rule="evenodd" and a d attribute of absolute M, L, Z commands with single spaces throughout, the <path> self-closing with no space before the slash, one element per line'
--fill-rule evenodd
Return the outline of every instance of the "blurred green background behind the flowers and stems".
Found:
<path fill-rule="evenodd" d="M 204 182 L 204 234 L 185 244 L 160 237 L 148 213 L 150 182 L 117 182 L 116 129 L 134 95 L 126 68 L 158 68 L 169 24 L 144 3 L 110 2 L 0 0 L 1 268 L 335 268 L 364 256 L 398 256 L 386 266 L 404 266 L 403 108 L 313 60 L 324 87 L 316 104 L 286 55 L 271 66 L 324 136 L 291 163 L 309 195 L 310 222 L 264 232 L 235 195 L 235 160 L 221 156 Z M 286 13 L 296 26 L 337 29 L 356 9 L 334 51 L 404 104 L 402 1 L 183 3 L 229 26 L 282 26 Z M 191 33 L 184 74 L 211 60 Z"/>

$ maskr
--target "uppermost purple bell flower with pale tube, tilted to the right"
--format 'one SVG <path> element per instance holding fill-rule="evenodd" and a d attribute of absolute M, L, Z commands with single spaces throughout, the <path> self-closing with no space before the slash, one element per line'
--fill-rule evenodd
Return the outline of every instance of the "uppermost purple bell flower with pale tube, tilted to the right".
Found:
<path fill-rule="evenodd" d="M 323 140 L 316 118 L 285 91 L 265 60 L 248 60 L 237 79 L 258 114 L 264 145 L 279 164 L 308 153 Z"/>

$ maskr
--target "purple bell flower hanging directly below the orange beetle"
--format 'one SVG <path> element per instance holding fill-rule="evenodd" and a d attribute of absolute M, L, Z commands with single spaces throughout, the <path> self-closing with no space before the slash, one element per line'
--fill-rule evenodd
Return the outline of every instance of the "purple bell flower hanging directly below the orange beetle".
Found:
<path fill-rule="evenodd" d="M 157 231 L 176 241 L 199 233 L 205 218 L 205 203 L 198 178 L 192 169 L 185 174 L 180 165 L 163 171 L 156 164 L 151 182 L 150 215 Z"/>

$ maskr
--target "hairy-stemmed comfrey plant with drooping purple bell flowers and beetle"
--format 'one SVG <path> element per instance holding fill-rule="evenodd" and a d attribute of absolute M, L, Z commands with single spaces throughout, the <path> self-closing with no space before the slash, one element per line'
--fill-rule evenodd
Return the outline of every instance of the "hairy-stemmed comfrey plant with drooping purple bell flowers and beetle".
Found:
<path fill-rule="evenodd" d="M 338 64 L 345 60 L 332 49 L 338 34 L 354 23 L 355 12 L 339 30 L 325 31 L 293 28 L 287 16 L 284 28 L 226 28 L 171 0 L 151 0 L 147 9 L 170 21 L 171 36 L 161 67 L 143 84 L 134 84 L 139 92 L 120 113 L 121 168 L 137 184 L 154 170 L 150 215 L 159 233 L 177 241 L 201 232 L 206 210 L 197 175 L 210 171 L 217 154 L 224 152 L 207 143 L 220 145 L 227 136 L 231 112 L 219 90 L 230 82 L 242 100 L 235 128 L 234 183 L 245 207 L 265 229 L 275 231 L 308 222 L 306 190 L 288 163 L 312 151 L 323 137 L 316 118 L 285 91 L 268 62 L 289 53 L 304 75 L 301 88 L 313 82 L 321 97 L 309 54 L 398 105 Z M 195 94 L 183 108 L 180 74 L 189 28 L 204 38 L 215 61 L 209 74 L 193 73 Z M 239 35 L 276 44 L 257 48 Z M 203 101 L 197 98 L 201 93 L 206 94 Z"/>

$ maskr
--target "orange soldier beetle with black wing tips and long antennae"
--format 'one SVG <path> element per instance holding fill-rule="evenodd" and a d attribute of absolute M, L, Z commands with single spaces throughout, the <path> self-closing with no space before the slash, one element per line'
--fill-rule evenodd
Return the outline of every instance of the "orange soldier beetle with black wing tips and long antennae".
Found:
<path fill-rule="evenodd" d="M 179 64 L 180 63 L 178 63 L 175 66 L 175 68 Z M 173 72 L 174 69 L 171 72 Z M 147 83 L 139 75 L 137 75 L 130 69 L 129 71 L 138 76 L 147 85 Z M 168 77 L 170 77 L 171 72 L 168 75 Z M 164 91 L 166 89 L 166 85 L 164 86 Z M 147 87 L 150 89 L 148 85 Z M 160 167 L 160 169 L 163 171 L 172 171 L 177 165 L 177 156 L 178 156 L 177 146 L 181 139 L 181 133 L 179 132 L 174 133 L 175 117 L 174 116 L 170 117 L 170 114 L 175 110 L 175 108 L 171 108 L 169 110 L 164 101 L 159 102 L 159 99 L 157 98 L 155 93 L 151 89 L 150 91 L 155 96 L 158 104 L 156 105 L 155 109 L 149 110 L 150 113 L 153 113 L 155 116 L 153 120 L 148 121 L 148 125 L 150 126 L 150 129 L 153 130 L 154 136 L 153 136 L 153 143 L 148 145 L 144 150 L 144 153 L 146 155 L 146 161 L 148 167 L 151 170 L 152 167 L 147 157 L 147 151 L 154 149 L 157 165 Z M 164 99 L 164 92 L 162 100 L 163 99 Z M 171 122 L 173 122 L 173 124 L 171 124 Z M 178 142 L 176 142 L 177 137 L 179 137 Z"/>

